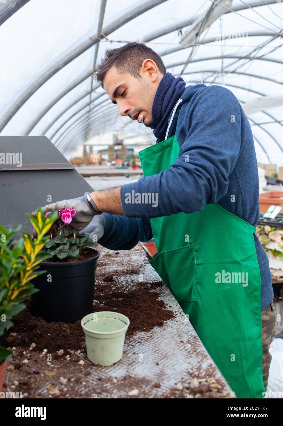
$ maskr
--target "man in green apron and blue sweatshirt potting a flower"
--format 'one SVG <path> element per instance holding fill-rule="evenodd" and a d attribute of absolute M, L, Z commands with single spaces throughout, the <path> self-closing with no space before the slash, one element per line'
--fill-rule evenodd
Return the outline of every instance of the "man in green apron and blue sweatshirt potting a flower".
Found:
<path fill-rule="evenodd" d="M 96 76 L 121 115 L 153 129 L 157 143 L 139 153 L 144 178 L 44 212 L 74 208 L 72 225 L 111 250 L 154 236 L 151 265 L 229 385 L 237 397 L 262 398 L 276 314 L 255 234 L 258 168 L 243 109 L 221 86 L 186 88 L 142 43 L 108 49 Z"/>

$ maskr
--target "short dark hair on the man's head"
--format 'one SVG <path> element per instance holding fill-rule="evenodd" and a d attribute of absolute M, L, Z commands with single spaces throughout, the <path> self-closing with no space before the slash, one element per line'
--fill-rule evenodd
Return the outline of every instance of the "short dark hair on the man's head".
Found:
<path fill-rule="evenodd" d="M 115 66 L 121 74 L 127 73 L 135 78 L 142 78 L 139 70 L 145 59 L 152 59 L 158 66 L 158 70 L 164 75 L 166 69 L 158 53 L 147 47 L 144 43 L 127 43 L 118 49 L 107 49 L 101 63 L 95 71 L 97 81 L 102 83 L 108 70 Z"/>

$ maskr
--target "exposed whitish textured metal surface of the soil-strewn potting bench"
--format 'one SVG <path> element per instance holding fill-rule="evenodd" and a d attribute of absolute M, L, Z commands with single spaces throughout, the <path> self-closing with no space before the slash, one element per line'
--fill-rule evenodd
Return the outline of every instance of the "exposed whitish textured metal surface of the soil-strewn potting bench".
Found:
<path fill-rule="evenodd" d="M 96 283 L 103 284 L 103 277 L 113 273 L 115 288 L 125 292 L 141 285 L 140 274 L 144 282 L 160 281 L 148 263 L 141 243 L 118 254 L 102 246 L 98 250 L 103 266 L 96 270 Z M 108 257 L 109 253 L 113 253 L 111 257 Z M 139 273 L 128 274 L 129 268 L 137 268 Z M 136 397 L 175 397 L 174 392 L 178 394 L 181 388 L 177 397 L 200 397 L 200 394 L 190 391 L 193 378 L 200 380 L 200 385 L 217 382 L 221 389 L 217 385 L 212 386 L 218 387 L 218 397 L 235 397 L 170 290 L 164 284 L 153 291 L 160 293 L 166 309 L 174 311 L 175 317 L 165 321 L 161 327 L 138 332 L 126 340 L 123 358 L 113 366 L 89 365 L 85 384 L 79 389 L 82 397 L 92 391 L 97 398 L 124 398 L 129 397 L 128 392 L 134 389 L 139 390 Z"/>

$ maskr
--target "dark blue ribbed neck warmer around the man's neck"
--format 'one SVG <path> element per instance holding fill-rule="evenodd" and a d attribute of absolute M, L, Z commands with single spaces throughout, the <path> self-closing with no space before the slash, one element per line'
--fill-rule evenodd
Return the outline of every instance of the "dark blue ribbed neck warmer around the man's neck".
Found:
<path fill-rule="evenodd" d="M 175 78 L 170 72 L 159 83 L 152 106 L 152 129 L 154 136 L 161 141 L 165 139 L 169 117 L 185 86 L 183 78 Z"/>

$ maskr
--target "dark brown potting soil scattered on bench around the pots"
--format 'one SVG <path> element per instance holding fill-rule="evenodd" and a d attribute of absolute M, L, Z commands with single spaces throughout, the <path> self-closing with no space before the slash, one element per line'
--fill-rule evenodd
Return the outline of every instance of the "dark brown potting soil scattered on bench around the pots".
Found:
<path fill-rule="evenodd" d="M 160 285 L 163 285 L 161 281 L 142 282 L 139 288 L 128 293 L 117 291 L 114 282 L 95 285 L 93 312 L 114 311 L 126 315 L 130 319 L 126 339 L 139 331 L 162 327 L 164 321 L 174 317 L 174 313 L 166 309 L 162 300 L 158 300 L 159 294 L 153 289 Z M 27 308 L 13 318 L 14 326 L 7 334 L 8 346 L 29 348 L 31 343 L 35 343 L 34 351 L 42 352 L 48 348 L 49 353 L 60 349 L 76 351 L 84 348 L 85 334 L 80 320 L 74 324 L 48 323 L 30 314 L 30 303 L 30 298 L 26 298 Z"/>

